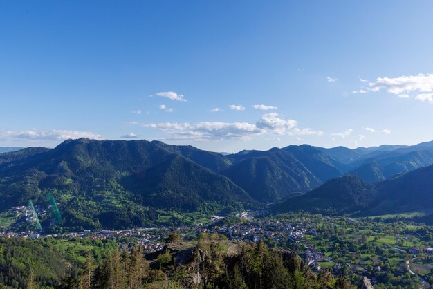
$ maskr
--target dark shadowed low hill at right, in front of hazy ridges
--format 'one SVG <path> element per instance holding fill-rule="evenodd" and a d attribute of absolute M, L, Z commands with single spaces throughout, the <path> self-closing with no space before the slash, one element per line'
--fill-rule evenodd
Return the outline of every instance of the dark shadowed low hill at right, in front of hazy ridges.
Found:
<path fill-rule="evenodd" d="M 375 215 L 428 209 L 432 203 L 433 165 L 380 183 L 367 183 L 356 176 L 335 178 L 302 196 L 286 198 L 273 209 Z"/>

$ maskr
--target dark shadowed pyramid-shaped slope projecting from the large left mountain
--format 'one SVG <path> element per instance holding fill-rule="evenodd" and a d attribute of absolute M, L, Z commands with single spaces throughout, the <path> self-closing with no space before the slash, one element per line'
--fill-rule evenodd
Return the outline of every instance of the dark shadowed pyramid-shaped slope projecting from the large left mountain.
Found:
<path fill-rule="evenodd" d="M 172 155 L 151 169 L 120 180 L 145 205 L 194 210 L 203 201 L 229 204 L 255 201 L 225 176 L 203 169 L 182 156 Z"/>

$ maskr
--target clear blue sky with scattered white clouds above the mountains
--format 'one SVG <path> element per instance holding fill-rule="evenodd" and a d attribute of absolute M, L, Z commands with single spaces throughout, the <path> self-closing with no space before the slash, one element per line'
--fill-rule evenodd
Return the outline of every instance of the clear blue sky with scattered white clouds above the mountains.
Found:
<path fill-rule="evenodd" d="M 0 1 L 0 146 L 433 140 L 432 11 L 432 1 Z"/>

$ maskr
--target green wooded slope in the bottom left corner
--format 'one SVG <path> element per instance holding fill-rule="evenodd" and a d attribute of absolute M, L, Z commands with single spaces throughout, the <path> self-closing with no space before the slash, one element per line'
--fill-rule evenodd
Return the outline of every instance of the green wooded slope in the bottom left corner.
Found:
<path fill-rule="evenodd" d="M 101 261 L 113 248 L 110 241 L 0 238 L 0 288 L 26 288 L 30 279 L 59 286 L 65 274 L 76 274 L 85 254 Z"/>

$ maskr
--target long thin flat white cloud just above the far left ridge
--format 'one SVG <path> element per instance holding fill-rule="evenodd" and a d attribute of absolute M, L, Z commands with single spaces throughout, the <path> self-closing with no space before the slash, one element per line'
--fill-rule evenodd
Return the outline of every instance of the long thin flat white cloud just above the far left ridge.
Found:
<path fill-rule="evenodd" d="M 28 130 L 28 131 L 0 131 L 0 139 L 3 140 L 68 140 L 76 138 L 91 138 L 102 140 L 102 136 L 98 133 L 89 131 L 68 131 L 68 130 Z"/>

